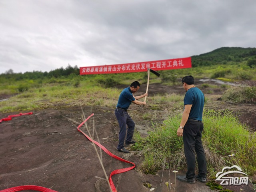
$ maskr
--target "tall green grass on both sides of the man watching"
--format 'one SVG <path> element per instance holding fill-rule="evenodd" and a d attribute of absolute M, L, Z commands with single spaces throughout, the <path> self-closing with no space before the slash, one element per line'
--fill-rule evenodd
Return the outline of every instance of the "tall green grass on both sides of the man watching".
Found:
<path fill-rule="evenodd" d="M 146 138 L 136 134 L 139 142 L 133 148 L 144 155 L 145 173 L 155 173 L 162 167 L 186 167 L 183 141 L 176 135 L 180 120 L 181 115 L 168 118 Z M 205 110 L 203 122 L 202 142 L 209 176 L 231 165 L 240 166 L 247 174 L 256 172 L 256 133 L 250 133 L 229 111 Z"/>

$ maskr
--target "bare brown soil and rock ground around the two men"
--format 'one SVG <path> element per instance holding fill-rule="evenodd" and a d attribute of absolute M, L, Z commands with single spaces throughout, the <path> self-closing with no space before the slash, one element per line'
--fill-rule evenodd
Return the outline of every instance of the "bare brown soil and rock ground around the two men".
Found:
<path fill-rule="evenodd" d="M 196 86 L 200 87 L 200 84 L 202 82 L 196 82 Z M 120 91 L 126 86 L 120 86 Z M 247 124 L 251 131 L 255 131 L 255 104 L 223 102 L 219 99 L 224 91 L 222 88 L 201 88 L 201 90 L 212 101 L 206 104 L 206 108 L 232 110 L 242 123 Z M 138 94 L 145 91 L 146 85 L 142 85 Z M 150 94 L 165 93 L 184 95 L 185 91 L 181 86 L 150 84 L 148 93 L 149 96 Z M 1 96 L 0 100 L 5 98 L 8 96 Z M 155 188 L 154 192 L 167 192 L 164 183 L 169 179 L 173 183 L 172 190 L 175 186 L 176 192 L 213 191 L 198 181 L 196 184 L 175 181 L 175 174 L 172 171 L 159 170 L 156 175 L 145 175 L 140 172 L 142 157 L 134 152 L 127 155 L 116 150 L 119 127 L 114 115 L 114 108 L 101 106 L 55 106 L 33 111 L 32 115 L 14 117 L 10 121 L 0 123 L 0 190 L 22 185 L 36 185 L 58 192 L 110 191 L 92 142 L 77 130 L 78 123 L 83 121 L 81 107 L 86 118 L 94 113 L 87 123 L 94 140 L 100 142 L 116 156 L 126 158 L 136 164 L 136 168 L 133 170 L 112 177 L 117 191 L 148 192 L 150 189 L 144 186 L 146 182 Z M 152 128 L 150 120 L 142 119 L 142 114 L 145 112 L 157 114 L 157 120 L 161 122 L 173 111 L 168 106 L 159 106 L 156 110 L 152 110 L 150 103 L 147 106 L 131 105 L 129 113 L 136 123 L 136 130 L 146 136 L 147 131 Z M 19 113 L 0 114 L 0 119 Z M 95 131 L 93 131 L 93 127 Z M 85 128 L 82 130 L 87 133 Z M 99 148 L 98 152 L 100 152 Z M 104 151 L 101 155 L 107 176 L 113 170 L 131 166 L 131 164 L 108 156 Z M 182 173 L 184 174 L 185 170 L 179 171 L 179 174 Z M 251 179 L 255 181 L 255 176 Z M 176 185 L 174 185 L 175 182 Z M 230 186 L 230 189 L 234 191 L 240 191 L 240 188 L 246 192 L 254 191 L 251 184 L 233 188 Z"/>

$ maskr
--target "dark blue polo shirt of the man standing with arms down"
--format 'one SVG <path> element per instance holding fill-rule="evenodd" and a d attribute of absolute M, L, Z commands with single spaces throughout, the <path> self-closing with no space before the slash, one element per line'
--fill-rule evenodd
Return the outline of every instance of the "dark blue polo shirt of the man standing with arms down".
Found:
<path fill-rule="evenodd" d="M 204 109 L 204 94 L 197 87 L 190 88 L 184 97 L 184 105 L 192 105 L 188 118 L 202 121 Z"/>

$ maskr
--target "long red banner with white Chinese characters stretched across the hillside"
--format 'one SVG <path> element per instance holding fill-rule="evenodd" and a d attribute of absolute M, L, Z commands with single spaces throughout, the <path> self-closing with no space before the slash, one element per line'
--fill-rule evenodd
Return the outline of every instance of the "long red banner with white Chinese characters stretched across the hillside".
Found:
<path fill-rule="evenodd" d="M 191 67 L 191 57 L 187 57 L 138 63 L 80 67 L 80 75 L 143 72 L 147 71 L 148 68 L 159 71 Z"/>

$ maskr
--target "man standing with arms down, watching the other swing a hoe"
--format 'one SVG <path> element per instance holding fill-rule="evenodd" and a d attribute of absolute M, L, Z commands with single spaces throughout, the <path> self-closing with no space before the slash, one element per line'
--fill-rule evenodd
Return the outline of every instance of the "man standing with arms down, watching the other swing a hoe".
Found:
<path fill-rule="evenodd" d="M 206 159 L 204 148 L 202 146 L 202 131 L 204 124 L 202 122 L 204 108 L 204 94 L 194 86 L 194 78 L 186 76 L 182 78 L 182 87 L 186 90 L 184 97 L 184 112 L 180 127 L 177 130 L 178 136 L 183 136 L 184 153 L 188 170 L 186 175 L 177 176 L 177 179 L 187 183 L 195 183 L 195 178 L 201 182 L 206 182 Z M 195 164 L 197 155 L 198 175 L 195 176 Z"/>

